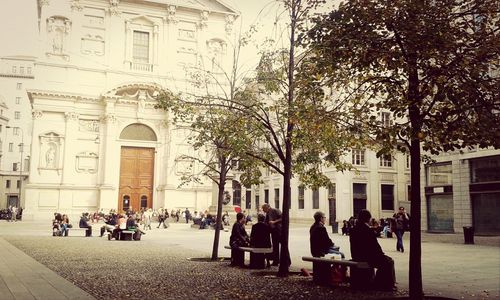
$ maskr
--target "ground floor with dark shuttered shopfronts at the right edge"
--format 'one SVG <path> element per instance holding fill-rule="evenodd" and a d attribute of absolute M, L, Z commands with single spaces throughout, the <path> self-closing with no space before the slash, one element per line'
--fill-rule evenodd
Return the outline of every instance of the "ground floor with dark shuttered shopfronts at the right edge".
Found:
<path fill-rule="evenodd" d="M 422 174 L 422 229 L 452 233 L 473 226 L 475 234 L 499 235 L 500 150 L 451 152 L 434 160 Z"/>

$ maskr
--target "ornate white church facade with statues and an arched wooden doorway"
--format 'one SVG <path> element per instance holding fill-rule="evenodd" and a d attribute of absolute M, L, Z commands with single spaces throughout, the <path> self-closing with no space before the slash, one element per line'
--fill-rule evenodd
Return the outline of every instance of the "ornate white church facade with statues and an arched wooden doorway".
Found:
<path fill-rule="evenodd" d="M 211 185 L 178 188 L 192 151 L 154 108 L 219 64 L 237 13 L 222 1 L 39 0 L 25 218 L 141 207 L 205 209 Z"/>

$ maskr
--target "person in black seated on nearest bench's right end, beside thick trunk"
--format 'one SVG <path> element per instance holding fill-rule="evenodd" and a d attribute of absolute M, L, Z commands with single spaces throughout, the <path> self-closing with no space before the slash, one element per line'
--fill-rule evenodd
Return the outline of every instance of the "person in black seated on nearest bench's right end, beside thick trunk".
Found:
<path fill-rule="evenodd" d="M 371 214 L 368 210 L 361 210 L 358 221 L 351 230 L 349 241 L 351 242 L 352 260 L 365 261 L 372 268 L 377 268 L 375 288 L 393 291 L 396 283 L 394 260 L 382 251 L 375 233 L 368 225 L 370 218 Z"/>

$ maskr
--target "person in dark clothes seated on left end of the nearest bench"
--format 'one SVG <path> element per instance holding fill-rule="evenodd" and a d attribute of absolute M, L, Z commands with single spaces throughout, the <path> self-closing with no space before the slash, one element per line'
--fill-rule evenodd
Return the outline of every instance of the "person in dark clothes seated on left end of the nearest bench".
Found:
<path fill-rule="evenodd" d="M 309 229 L 311 254 L 314 257 L 322 257 L 325 254 L 333 253 L 339 254 L 344 259 L 344 253 L 335 248 L 335 245 L 326 232 L 325 219 L 325 214 L 320 211 L 314 214 L 314 224 Z"/>

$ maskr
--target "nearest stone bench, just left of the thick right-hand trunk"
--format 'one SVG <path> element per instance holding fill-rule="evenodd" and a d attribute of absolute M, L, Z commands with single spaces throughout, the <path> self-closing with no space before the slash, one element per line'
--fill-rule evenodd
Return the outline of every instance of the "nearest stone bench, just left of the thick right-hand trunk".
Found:
<path fill-rule="evenodd" d="M 313 263 L 313 281 L 319 285 L 331 284 L 332 266 L 335 265 L 349 268 L 349 283 L 354 289 L 368 289 L 374 275 L 373 268 L 367 262 L 312 256 L 303 256 L 302 260 Z"/>

